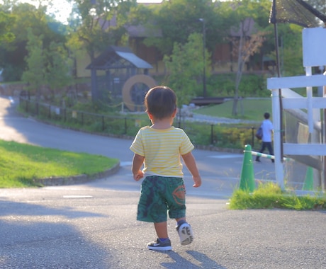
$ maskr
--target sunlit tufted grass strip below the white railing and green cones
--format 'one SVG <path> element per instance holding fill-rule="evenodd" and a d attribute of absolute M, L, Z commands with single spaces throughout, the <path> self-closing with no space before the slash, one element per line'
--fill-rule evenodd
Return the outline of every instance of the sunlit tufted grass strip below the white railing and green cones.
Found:
<path fill-rule="evenodd" d="M 257 190 L 249 193 L 235 190 L 230 198 L 232 210 L 283 208 L 289 210 L 326 210 L 326 195 L 298 196 L 282 191 L 275 183 L 259 184 Z"/>

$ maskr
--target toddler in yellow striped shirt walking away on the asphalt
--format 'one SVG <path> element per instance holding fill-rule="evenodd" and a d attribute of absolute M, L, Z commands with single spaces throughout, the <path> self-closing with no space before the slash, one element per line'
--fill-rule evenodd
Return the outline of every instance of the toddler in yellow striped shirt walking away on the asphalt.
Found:
<path fill-rule="evenodd" d="M 172 250 L 167 232 L 167 212 L 176 219 L 181 245 L 191 244 L 193 231 L 186 222 L 186 190 L 180 158 L 193 176 L 193 187 L 201 186 L 189 137 L 173 127 L 176 94 L 171 88 L 157 86 L 145 96 L 145 108 L 152 125 L 140 128 L 130 149 L 133 156 L 133 178 L 142 181 L 137 220 L 153 222 L 157 240 L 147 244 L 154 251 Z M 140 170 L 142 165 L 144 168 Z"/>

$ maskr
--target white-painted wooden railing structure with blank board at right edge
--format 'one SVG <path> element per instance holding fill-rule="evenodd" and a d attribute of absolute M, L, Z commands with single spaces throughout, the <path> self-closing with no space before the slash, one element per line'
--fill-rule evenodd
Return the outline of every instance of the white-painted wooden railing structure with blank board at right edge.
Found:
<path fill-rule="evenodd" d="M 288 180 L 284 175 L 287 162 L 283 162 L 283 156 L 286 156 L 306 166 L 307 174 L 313 176 L 314 190 L 325 190 L 326 76 L 312 74 L 313 67 L 326 65 L 325 44 L 326 28 L 304 28 L 305 76 L 267 79 L 272 97 L 276 183 L 282 189 L 285 179 Z M 306 88 L 306 97 L 291 90 L 301 87 Z M 322 96 L 313 97 L 313 87 L 323 87 Z M 282 126 L 281 117 L 291 120 Z"/>

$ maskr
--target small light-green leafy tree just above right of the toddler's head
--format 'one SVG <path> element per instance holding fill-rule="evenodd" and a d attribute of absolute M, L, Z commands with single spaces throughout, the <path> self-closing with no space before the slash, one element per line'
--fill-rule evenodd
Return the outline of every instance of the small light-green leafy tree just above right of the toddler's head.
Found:
<path fill-rule="evenodd" d="M 168 75 L 166 84 L 174 89 L 179 107 L 191 101 L 198 91 L 203 71 L 203 36 L 198 33 L 189 35 L 189 41 L 181 45 L 174 43 L 171 56 L 164 57 Z M 206 53 L 206 65 L 210 66 L 210 55 Z M 209 72 L 208 72 L 209 76 Z"/>

